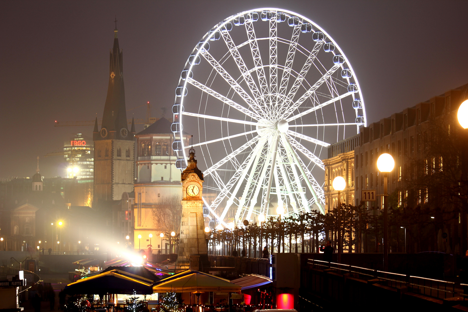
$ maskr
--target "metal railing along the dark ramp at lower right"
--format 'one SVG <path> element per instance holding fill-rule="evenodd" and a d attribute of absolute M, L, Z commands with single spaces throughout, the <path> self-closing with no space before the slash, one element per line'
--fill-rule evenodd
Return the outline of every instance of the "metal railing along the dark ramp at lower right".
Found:
<path fill-rule="evenodd" d="M 462 290 L 455 288 L 456 284 L 442 280 L 436 280 L 427 277 L 410 276 L 405 274 L 385 272 L 370 268 L 361 268 L 348 264 L 335 262 L 320 261 L 307 259 L 307 264 L 313 268 L 329 269 L 336 271 L 339 274 L 348 274 L 349 276 L 362 280 L 377 280 L 379 284 L 383 284 L 393 288 L 407 287 L 408 291 L 416 292 L 424 296 L 435 298 L 455 297 L 456 294 L 464 296 Z M 468 286 L 460 284 L 461 286 Z"/>

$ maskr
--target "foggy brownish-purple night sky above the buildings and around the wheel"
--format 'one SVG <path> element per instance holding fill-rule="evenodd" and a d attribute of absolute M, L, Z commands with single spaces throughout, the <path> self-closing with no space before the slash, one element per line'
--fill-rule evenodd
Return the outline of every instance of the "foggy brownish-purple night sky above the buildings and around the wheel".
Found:
<path fill-rule="evenodd" d="M 42 156 L 73 133 L 92 137 L 92 126 L 54 121 L 102 117 L 115 15 L 127 109 L 150 101 L 160 117 L 199 39 L 260 7 L 291 10 L 328 32 L 356 73 L 368 123 L 468 83 L 467 1 L 1 1 L 0 178 L 32 176 L 37 155 L 43 176 L 64 176 L 63 157 Z M 145 118 L 146 107 L 132 113 Z"/>

